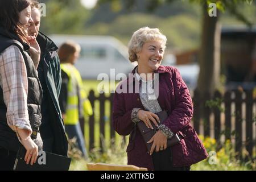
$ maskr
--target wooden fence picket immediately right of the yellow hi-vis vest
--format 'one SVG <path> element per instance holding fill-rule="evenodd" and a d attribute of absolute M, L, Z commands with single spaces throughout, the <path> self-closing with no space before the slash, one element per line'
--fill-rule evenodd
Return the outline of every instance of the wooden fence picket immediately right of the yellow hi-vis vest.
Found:
<path fill-rule="evenodd" d="M 89 117 L 89 150 L 92 150 L 94 148 L 94 123 L 95 123 L 94 122 L 95 121 L 94 101 L 96 100 L 93 90 L 90 90 L 88 99 L 93 109 L 93 115 L 90 115 Z"/>

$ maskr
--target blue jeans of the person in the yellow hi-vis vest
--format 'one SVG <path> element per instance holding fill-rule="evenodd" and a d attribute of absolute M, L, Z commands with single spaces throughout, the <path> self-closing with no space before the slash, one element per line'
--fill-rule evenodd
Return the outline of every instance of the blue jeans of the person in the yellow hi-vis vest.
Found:
<path fill-rule="evenodd" d="M 87 159 L 88 154 L 86 151 L 84 135 L 82 135 L 80 123 L 78 122 L 76 125 L 65 125 L 65 131 L 68 134 L 69 139 L 76 137 L 76 142 L 79 150 L 82 152 L 84 158 Z"/>

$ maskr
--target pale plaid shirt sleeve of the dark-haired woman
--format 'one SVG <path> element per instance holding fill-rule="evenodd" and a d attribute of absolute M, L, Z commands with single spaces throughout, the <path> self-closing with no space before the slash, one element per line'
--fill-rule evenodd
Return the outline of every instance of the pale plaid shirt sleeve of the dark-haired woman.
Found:
<path fill-rule="evenodd" d="M 27 70 L 22 53 L 16 46 L 6 48 L 0 55 L 0 86 L 7 106 L 8 125 L 15 132 L 18 127 L 31 134 L 27 109 Z"/>

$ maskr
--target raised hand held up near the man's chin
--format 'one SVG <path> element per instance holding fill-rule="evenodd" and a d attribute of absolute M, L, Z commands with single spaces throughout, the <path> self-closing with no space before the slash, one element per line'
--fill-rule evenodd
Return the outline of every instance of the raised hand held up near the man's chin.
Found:
<path fill-rule="evenodd" d="M 41 54 L 41 49 L 36 41 L 35 36 L 27 36 L 27 40 L 30 43 L 30 49 L 28 50 L 31 55 L 31 59 L 34 62 L 35 68 L 38 67 L 38 63 L 40 61 L 40 54 Z"/>

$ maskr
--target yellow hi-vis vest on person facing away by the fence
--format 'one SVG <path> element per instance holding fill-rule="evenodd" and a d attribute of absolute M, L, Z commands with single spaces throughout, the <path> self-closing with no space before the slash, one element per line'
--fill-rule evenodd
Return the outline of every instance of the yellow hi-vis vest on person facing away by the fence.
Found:
<path fill-rule="evenodd" d="M 65 125 L 76 125 L 79 122 L 79 96 L 82 109 L 82 116 L 92 115 L 92 105 L 87 98 L 87 95 L 82 88 L 82 78 L 79 71 L 70 63 L 60 64 L 61 69 L 67 73 L 68 81 L 68 98 L 67 109 L 64 119 Z"/>

